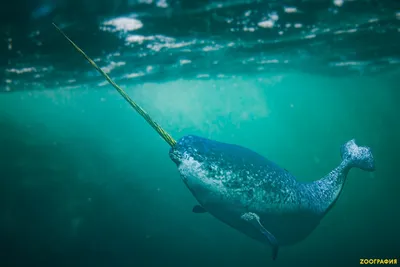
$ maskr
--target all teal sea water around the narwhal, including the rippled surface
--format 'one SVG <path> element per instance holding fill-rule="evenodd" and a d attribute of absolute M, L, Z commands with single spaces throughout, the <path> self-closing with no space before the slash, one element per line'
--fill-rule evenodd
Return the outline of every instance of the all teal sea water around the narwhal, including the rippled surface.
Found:
<path fill-rule="evenodd" d="M 400 264 L 399 1 L 22 2 L 0 20 L 1 265 Z M 192 212 L 169 146 L 52 21 L 175 139 L 240 144 L 314 181 L 355 138 L 376 170 L 351 170 L 272 261 Z"/>

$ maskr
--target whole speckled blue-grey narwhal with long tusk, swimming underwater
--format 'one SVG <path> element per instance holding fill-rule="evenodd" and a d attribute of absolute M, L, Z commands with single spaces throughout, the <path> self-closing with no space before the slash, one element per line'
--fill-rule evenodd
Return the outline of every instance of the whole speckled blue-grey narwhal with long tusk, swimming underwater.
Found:
<path fill-rule="evenodd" d="M 280 246 L 305 239 L 317 227 L 337 201 L 351 168 L 375 169 L 371 149 L 358 146 L 354 139 L 341 147 L 339 166 L 314 182 L 298 181 L 274 162 L 238 145 L 194 135 L 175 141 L 54 26 L 171 146 L 169 156 L 198 202 L 193 212 L 208 212 L 247 236 L 270 245 L 274 260 Z"/>

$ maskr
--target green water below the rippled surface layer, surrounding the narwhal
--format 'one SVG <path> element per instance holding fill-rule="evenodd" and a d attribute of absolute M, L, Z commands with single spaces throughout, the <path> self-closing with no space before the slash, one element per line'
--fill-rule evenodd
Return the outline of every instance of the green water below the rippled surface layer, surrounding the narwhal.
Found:
<path fill-rule="evenodd" d="M 0 95 L 3 266 L 339 266 L 399 258 L 399 72 L 297 73 L 145 83 L 128 94 L 175 139 L 240 144 L 299 180 L 370 146 L 334 209 L 303 242 L 271 249 L 197 204 L 168 145 L 110 87 Z"/>

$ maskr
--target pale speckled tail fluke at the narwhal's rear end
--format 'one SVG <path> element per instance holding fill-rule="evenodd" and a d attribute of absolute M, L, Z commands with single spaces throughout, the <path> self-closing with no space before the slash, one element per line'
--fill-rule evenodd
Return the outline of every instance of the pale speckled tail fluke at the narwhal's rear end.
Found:
<path fill-rule="evenodd" d="M 343 161 L 350 167 L 360 168 L 364 171 L 374 171 L 375 162 L 371 148 L 358 146 L 354 139 L 348 141 L 340 148 Z"/>

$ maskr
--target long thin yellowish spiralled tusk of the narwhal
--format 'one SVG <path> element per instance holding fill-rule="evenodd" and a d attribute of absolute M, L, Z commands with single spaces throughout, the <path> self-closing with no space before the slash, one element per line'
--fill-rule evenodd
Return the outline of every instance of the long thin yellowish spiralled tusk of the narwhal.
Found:
<path fill-rule="evenodd" d="M 101 75 L 103 75 L 104 78 L 118 91 L 118 93 L 121 94 L 121 96 L 128 101 L 128 103 L 131 105 L 131 107 L 137 111 L 137 113 L 140 114 L 149 124 L 151 127 L 154 128 L 154 130 L 157 131 L 157 133 L 171 146 L 175 146 L 176 141 L 169 135 L 163 128 L 161 128 L 160 125 L 158 125 L 155 121 L 151 119 L 149 114 L 147 114 L 144 109 L 142 109 L 138 104 L 136 104 L 129 96 L 128 94 L 118 86 L 111 78 L 110 76 L 107 75 L 97 64 L 88 56 L 86 55 L 85 52 L 83 52 L 82 49 L 80 49 L 69 37 L 55 24 L 53 23 L 54 27 L 65 37 L 65 39 L 68 40 L 72 44 L 72 46 L 82 55 L 86 58 L 87 61 L 89 61 L 90 65 L 92 65 L 98 72 L 100 72 Z"/>

